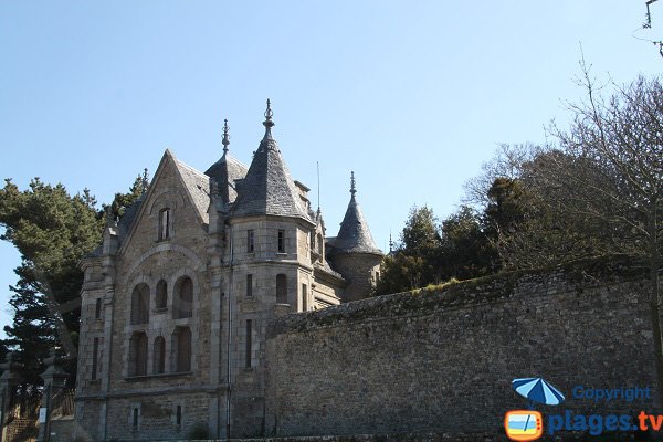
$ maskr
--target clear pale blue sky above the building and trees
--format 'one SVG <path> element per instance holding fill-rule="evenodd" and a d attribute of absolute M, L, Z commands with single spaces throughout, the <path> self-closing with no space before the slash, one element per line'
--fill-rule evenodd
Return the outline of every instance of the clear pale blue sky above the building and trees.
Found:
<path fill-rule="evenodd" d="M 379 246 L 412 204 L 440 218 L 499 143 L 544 141 L 580 97 L 579 43 L 618 83 L 663 59 L 643 1 L 0 1 L 0 178 L 126 190 L 166 147 L 249 164 L 264 102 L 335 235 L 349 175 Z M 663 38 L 663 2 L 652 4 Z M 317 204 L 314 197 L 314 203 Z M 0 243 L 0 325 L 19 254 Z"/>

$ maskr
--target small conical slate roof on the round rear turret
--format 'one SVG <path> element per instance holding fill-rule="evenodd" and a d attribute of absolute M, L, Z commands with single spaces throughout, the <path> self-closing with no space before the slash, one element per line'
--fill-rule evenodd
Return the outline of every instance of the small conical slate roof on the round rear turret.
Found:
<path fill-rule="evenodd" d="M 350 202 L 340 223 L 338 235 L 329 241 L 333 248 L 330 253 L 372 253 L 383 255 L 382 251 L 377 248 L 368 224 L 364 219 L 359 203 L 355 198 L 355 193 L 357 193 L 355 189 L 355 172 L 351 175 L 350 193 Z"/>

